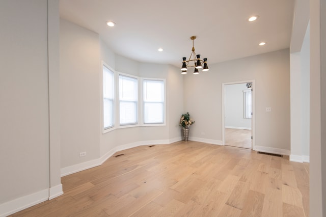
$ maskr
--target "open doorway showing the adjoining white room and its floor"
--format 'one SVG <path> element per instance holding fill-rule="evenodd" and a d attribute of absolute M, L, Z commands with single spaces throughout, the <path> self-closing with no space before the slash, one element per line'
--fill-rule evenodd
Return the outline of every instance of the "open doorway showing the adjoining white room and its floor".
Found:
<path fill-rule="evenodd" d="M 254 147 L 254 80 L 224 83 L 223 144 L 240 148 Z"/>

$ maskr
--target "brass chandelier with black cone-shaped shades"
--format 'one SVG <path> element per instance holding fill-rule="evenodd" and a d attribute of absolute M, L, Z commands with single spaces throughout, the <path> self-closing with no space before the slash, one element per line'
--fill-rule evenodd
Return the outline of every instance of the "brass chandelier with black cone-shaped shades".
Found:
<path fill-rule="evenodd" d="M 203 68 L 203 71 L 208 71 L 207 66 L 207 58 L 204 58 L 203 60 L 200 59 L 200 55 L 196 55 L 195 47 L 194 47 L 194 40 L 196 39 L 196 36 L 190 37 L 191 40 L 193 40 L 193 49 L 192 53 L 188 60 L 186 60 L 185 57 L 182 58 L 182 67 L 181 67 L 181 74 L 187 73 L 187 67 L 195 67 L 194 74 L 199 74 L 200 68 Z M 204 65 L 204 66 L 203 66 Z"/>

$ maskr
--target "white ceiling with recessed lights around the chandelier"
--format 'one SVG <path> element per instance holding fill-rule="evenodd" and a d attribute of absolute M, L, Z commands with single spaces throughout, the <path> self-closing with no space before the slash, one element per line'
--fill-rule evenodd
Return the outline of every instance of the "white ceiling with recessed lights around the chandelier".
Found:
<path fill-rule="evenodd" d="M 61 18 L 98 33 L 115 53 L 177 67 L 191 55 L 191 36 L 208 66 L 288 48 L 293 11 L 294 0 L 60 0 Z M 259 18 L 249 22 L 252 15 Z"/>

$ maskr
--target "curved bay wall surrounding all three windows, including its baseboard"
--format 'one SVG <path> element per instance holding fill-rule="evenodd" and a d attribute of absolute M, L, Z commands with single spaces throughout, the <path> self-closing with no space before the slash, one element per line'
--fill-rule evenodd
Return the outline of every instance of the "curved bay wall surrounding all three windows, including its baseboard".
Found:
<path fill-rule="evenodd" d="M 116 55 L 98 34 L 64 19 L 60 21 L 60 60 L 62 174 L 97 166 L 117 150 L 181 140 L 183 78 L 178 68 Z M 167 125 L 116 128 L 103 134 L 102 62 L 117 72 L 166 79 Z M 87 155 L 79 157 L 84 151 Z"/>

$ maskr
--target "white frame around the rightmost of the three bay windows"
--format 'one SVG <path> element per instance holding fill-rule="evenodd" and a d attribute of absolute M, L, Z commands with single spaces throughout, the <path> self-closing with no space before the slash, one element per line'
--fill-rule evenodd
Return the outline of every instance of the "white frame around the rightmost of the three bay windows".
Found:
<path fill-rule="evenodd" d="M 144 80 L 159 80 L 163 82 L 164 87 L 164 101 L 163 101 L 163 123 L 145 123 L 145 101 L 144 101 Z M 142 77 L 141 78 L 141 114 L 142 114 L 142 126 L 166 126 L 167 125 L 167 88 L 166 88 L 166 79 L 165 78 L 149 78 Z"/>

